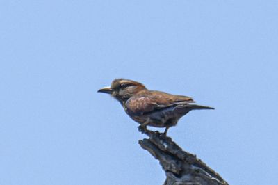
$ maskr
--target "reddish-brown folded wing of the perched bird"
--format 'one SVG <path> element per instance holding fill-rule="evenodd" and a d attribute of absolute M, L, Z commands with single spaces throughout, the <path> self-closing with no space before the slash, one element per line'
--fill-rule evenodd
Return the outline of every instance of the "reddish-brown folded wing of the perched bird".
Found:
<path fill-rule="evenodd" d="M 189 103 L 194 103 L 191 97 L 148 91 L 131 97 L 126 102 L 126 108 L 133 113 L 148 113 L 169 106 L 181 106 Z"/>

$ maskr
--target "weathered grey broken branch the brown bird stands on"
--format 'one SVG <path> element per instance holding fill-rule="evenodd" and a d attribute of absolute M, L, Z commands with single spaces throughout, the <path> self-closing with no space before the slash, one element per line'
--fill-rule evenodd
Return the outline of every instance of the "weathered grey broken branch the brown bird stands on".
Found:
<path fill-rule="evenodd" d="M 158 131 L 147 130 L 145 134 L 149 138 L 139 140 L 139 144 L 158 159 L 166 175 L 164 185 L 228 184 L 195 155 L 183 151 L 172 138 L 165 137 Z"/>

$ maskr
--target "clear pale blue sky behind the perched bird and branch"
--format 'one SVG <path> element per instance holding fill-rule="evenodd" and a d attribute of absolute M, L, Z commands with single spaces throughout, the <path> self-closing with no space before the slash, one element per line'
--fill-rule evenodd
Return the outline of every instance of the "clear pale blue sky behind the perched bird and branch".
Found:
<path fill-rule="evenodd" d="M 168 131 L 229 184 L 278 182 L 277 1 L 1 1 L 0 184 L 162 184 L 115 78 L 188 95 Z"/>

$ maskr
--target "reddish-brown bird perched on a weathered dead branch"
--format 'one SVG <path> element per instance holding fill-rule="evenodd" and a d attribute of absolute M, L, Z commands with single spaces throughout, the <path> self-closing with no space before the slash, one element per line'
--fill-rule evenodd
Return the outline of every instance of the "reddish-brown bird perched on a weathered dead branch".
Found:
<path fill-rule="evenodd" d="M 142 83 L 129 79 L 115 79 L 111 86 L 99 89 L 117 99 L 127 115 L 140 126 L 144 133 L 147 126 L 165 127 L 167 136 L 170 127 L 177 125 L 179 119 L 192 110 L 214 109 L 211 106 L 194 104 L 192 97 L 172 95 L 158 90 L 148 90 Z"/>

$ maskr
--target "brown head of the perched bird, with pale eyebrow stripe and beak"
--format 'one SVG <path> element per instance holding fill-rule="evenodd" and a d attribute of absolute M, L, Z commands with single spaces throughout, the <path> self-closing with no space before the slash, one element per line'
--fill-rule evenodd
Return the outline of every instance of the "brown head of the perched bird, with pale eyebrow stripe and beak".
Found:
<path fill-rule="evenodd" d="M 99 89 L 99 93 L 108 93 L 112 97 L 115 97 L 119 102 L 125 102 L 127 99 L 140 92 L 140 90 L 145 90 L 145 86 L 137 81 L 132 81 L 128 79 L 115 79 L 112 81 L 110 87 L 105 87 Z"/>

